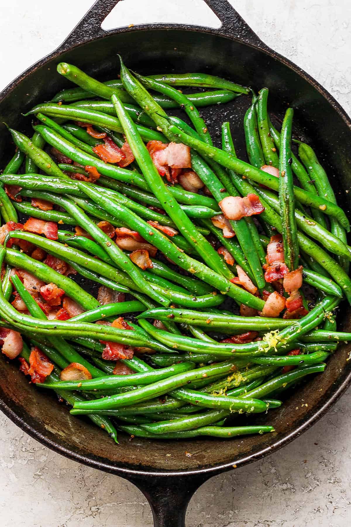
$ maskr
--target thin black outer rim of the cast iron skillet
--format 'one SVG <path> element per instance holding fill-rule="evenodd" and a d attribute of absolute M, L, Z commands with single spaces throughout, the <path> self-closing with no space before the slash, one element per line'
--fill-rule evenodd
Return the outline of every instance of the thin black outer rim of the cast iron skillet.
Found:
<path fill-rule="evenodd" d="M 339 114 L 339 116 L 343 119 L 346 126 L 349 129 L 349 132 L 351 133 L 351 119 L 348 116 L 348 114 L 345 112 L 345 110 L 342 108 L 342 106 L 336 101 L 336 99 L 331 95 L 320 83 L 318 83 L 315 79 L 313 79 L 312 76 L 310 76 L 308 73 L 306 73 L 302 68 L 294 64 L 292 61 L 290 61 L 288 58 L 280 55 L 279 53 L 272 50 L 269 46 L 264 44 L 259 40 L 259 38 L 252 32 L 252 35 L 254 35 L 254 38 L 239 38 L 233 35 L 226 35 L 223 32 L 220 31 L 221 28 L 215 29 L 215 28 L 208 28 L 208 27 L 202 27 L 202 26 L 189 26 L 186 24 L 141 24 L 133 27 L 122 27 L 117 28 L 114 30 L 106 31 L 103 35 L 96 36 L 90 36 L 85 40 L 85 42 L 78 42 L 71 44 L 70 37 L 73 35 L 69 35 L 67 39 L 56 48 L 52 53 L 49 53 L 48 55 L 44 56 L 43 58 L 39 59 L 36 63 L 34 63 L 32 66 L 28 67 L 23 73 L 18 75 L 16 79 L 14 79 L 11 83 L 9 83 L 4 90 L 0 93 L 0 103 L 5 99 L 5 97 L 14 89 L 14 87 L 21 83 L 23 80 L 26 79 L 28 75 L 33 73 L 38 69 L 38 67 L 41 67 L 45 65 L 47 62 L 54 60 L 55 58 L 58 58 L 59 55 L 61 55 L 64 52 L 68 52 L 73 50 L 76 47 L 84 46 L 87 43 L 91 43 L 93 41 L 101 40 L 101 38 L 108 37 L 110 35 L 116 34 L 116 33 L 128 33 L 132 31 L 148 31 L 148 30 L 175 30 L 175 31 L 187 31 L 187 32 L 195 32 L 195 33 L 203 33 L 203 34 L 212 34 L 216 37 L 225 38 L 226 40 L 235 41 L 240 44 L 247 45 L 250 48 L 255 49 L 256 51 L 260 51 L 265 53 L 266 55 L 278 60 L 279 62 L 283 63 L 285 66 L 287 66 L 290 70 L 292 70 L 295 74 L 297 74 L 300 77 L 303 77 L 305 81 L 307 81 L 309 84 L 311 84 L 315 90 L 317 90 L 323 97 L 328 101 L 328 103 L 332 106 L 332 108 Z M 68 43 L 68 45 L 67 45 Z M 137 470 L 137 469 L 128 469 L 121 466 L 116 466 L 112 463 L 106 463 L 103 461 L 96 460 L 94 457 L 89 457 L 83 454 L 76 453 L 72 450 L 69 450 L 69 448 L 60 445 L 58 443 L 55 443 L 54 441 L 50 440 L 48 437 L 46 437 L 41 432 L 37 431 L 33 426 L 29 425 L 27 422 L 24 421 L 22 417 L 19 417 L 2 399 L 0 399 L 0 409 L 2 412 L 9 418 L 13 423 L 15 423 L 17 426 L 19 426 L 23 431 L 25 431 L 29 436 L 33 437 L 35 440 L 37 440 L 39 443 L 47 446 L 51 450 L 64 455 L 65 457 L 68 457 L 69 459 L 73 461 L 77 461 L 79 463 L 82 463 L 84 465 L 91 466 L 95 469 L 103 470 L 104 472 L 108 472 L 111 474 L 117 474 L 121 477 L 125 477 L 128 479 L 128 476 L 161 476 L 161 477 L 169 477 L 169 476 L 191 476 L 191 475 L 215 475 L 216 473 L 228 471 L 233 468 L 237 468 L 239 466 L 244 466 L 245 464 L 248 464 L 250 462 L 256 461 L 260 458 L 265 457 L 266 455 L 269 455 L 273 452 L 276 452 L 283 446 L 289 444 L 292 442 L 295 438 L 300 436 L 303 432 L 306 432 L 313 424 L 315 424 L 318 419 L 323 417 L 327 411 L 332 407 L 336 401 L 339 399 L 340 396 L 343 395 L 343 393 L 346 391 L 346 389 L 351 384 L 351 364 L 348 367 L 349 372 L 346 373 L 346 376 L 342 383 L 338 385 L 338 387 L 334 390 L 334 388 L 329 388 L 329 391 L 333 391 L 329 394 L 326 401 L 321 405 L 317 405 L 315 409 L 313 409 L 313 414 L 310 415 L 306 421 L 304 421 L 302 424 L 300 424 L 297 428 L 294 428 L 292 432 L 289 432 L 285 434 L 282 438 L 279 439 L 279 441 L 273 443 L 272 445 L 262 448 L 262 450 L 259 450 L 258 452 L 249 454 L 247 456 L 244 456 L 240 458 L 237 461 L 232 461 L 229 463 L 222 463 L 222 464 L 216 464 L 211 467 L 206 467 L 204 469 L 197 469 L 197 470 L 189 470 L 189 471 L 160 471 L 160 470 L 151 470 L 151 471 L 143 471 L 143 470 Z M 343 373 L 347 372 L 347 365 L 343 368 L 340 375 L 343 375 Z"/>

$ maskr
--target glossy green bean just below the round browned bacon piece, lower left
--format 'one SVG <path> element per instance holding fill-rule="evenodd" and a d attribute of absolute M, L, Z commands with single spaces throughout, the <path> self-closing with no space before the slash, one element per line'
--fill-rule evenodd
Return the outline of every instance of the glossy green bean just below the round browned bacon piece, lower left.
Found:
<path fill-rule="evenodd" d="M 167 368 L 153 370 L 151 372 L 144 373 L 133 373 L 132 375 L 107 375 L 99 377 L 99 379 L 88 379 L 88 380 L 64 380 L 57 386 L 65 390 L 103 390 L 103 389 L 114 389 L 121 388 L 124 386 L 135 386 L 135 385 L 149 385 L 157 383 L 159 380 L 167 379 L 174 375 L 178 375 L 189 370 L 194 369 L 194 363 L 182 363 Z M 55 383 L 56 385 L 56 383 Z M 55 385 L 51 383 L 42 384 L 43 388 L 54 388 Z"/>

